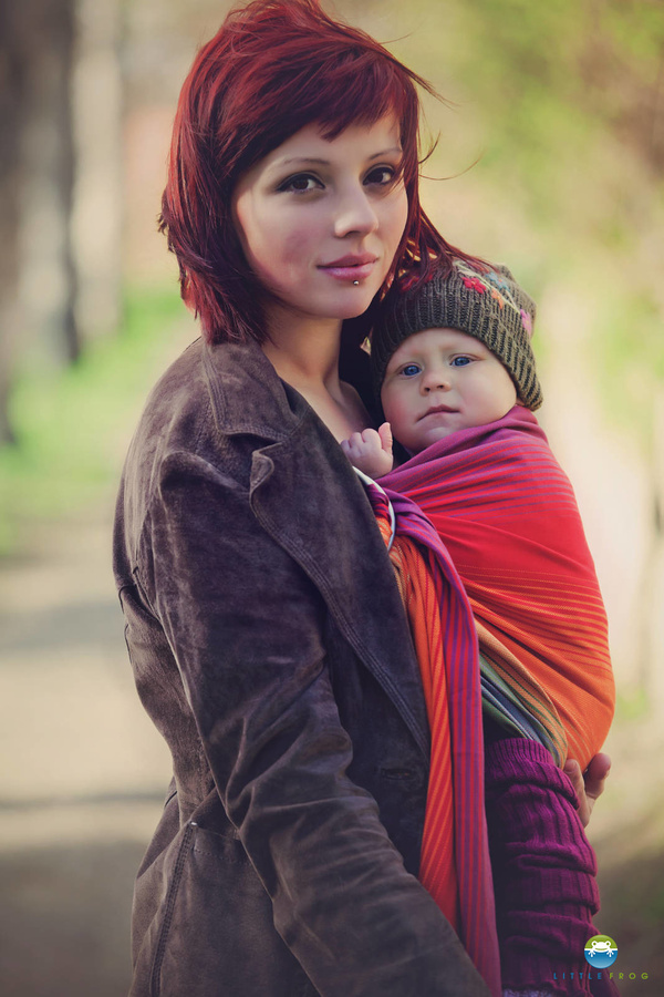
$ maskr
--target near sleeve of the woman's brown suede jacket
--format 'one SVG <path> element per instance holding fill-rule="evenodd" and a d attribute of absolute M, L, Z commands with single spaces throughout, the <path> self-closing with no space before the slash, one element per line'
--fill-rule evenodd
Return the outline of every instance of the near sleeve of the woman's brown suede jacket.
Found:
<path fill-rule="evenodd" d="M 169 455 L 138 568 L 276 928 L 319 993 L 485 997 L 374 799 L 345 774 L 324 605 L 247 491 L 200 458 Z"/>

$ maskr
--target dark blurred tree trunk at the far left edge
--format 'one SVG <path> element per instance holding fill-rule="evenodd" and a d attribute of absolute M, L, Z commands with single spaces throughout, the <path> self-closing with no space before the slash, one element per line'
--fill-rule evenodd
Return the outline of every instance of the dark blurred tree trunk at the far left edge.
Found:
<path fill-rule="evenodd" d="M 0 0 L 0 443 L 17 366 L 80 341 L 70 220 L 74 0 Z"/>

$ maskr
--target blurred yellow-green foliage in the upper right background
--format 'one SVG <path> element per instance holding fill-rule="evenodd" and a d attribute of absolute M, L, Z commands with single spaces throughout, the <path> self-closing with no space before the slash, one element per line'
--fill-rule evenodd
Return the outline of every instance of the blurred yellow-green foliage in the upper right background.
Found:
<path fill-rule="evenodd" d="M 444 124 L 426 173 L 459 147 L 460 169 L 478 158 L 489 251 L 536 298 L 564 284 L 590 302 L 589 377 L 647 453 L 664 390 L 664 3 L 412 0 L 403 20 L 416 27 L 395 51 L 455 104 L 428 114 Z"/>

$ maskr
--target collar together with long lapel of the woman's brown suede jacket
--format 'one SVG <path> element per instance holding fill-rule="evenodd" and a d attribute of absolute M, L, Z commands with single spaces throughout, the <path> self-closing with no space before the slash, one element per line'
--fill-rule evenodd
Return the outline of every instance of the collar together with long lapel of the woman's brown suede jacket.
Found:
<path fill-rule="evenodd" d="M 385 544 L 363 485 L 302 395 L 257 343 L 203 346 L 215 420 L 253 451 L 250 503 L 320 590 L 341 633 L 428 758 L 422 680 Z"/>

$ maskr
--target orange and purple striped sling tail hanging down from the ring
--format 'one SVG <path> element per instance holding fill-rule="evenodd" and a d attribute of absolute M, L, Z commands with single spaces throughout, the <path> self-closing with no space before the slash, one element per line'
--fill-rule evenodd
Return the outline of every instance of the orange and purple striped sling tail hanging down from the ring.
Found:
<path fill-rule="evenodd" d="M 369 483 L 367 493 L 408 616 L 430 729 L 419 880 L 457 931 L 491 994 L 499 997 L 473 614 L 458 574 L 421 510 L 375 483 Z M 394 536 L 392 498 L 400 504 Z"/>

